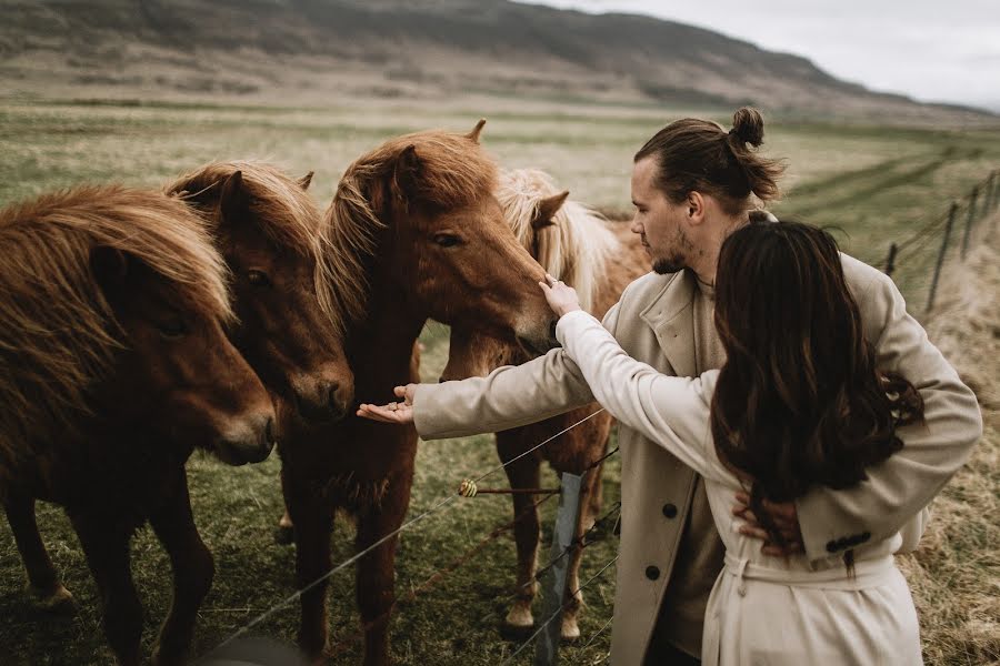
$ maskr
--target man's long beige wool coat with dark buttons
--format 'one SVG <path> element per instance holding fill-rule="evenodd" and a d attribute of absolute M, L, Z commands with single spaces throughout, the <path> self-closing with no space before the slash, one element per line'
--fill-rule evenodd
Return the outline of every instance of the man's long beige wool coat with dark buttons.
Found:
<path fill-rule="evenodd" d="M 913 547 L 924 507 L 964 464 L 982 434 L 976 396 L 907 313 L 891 279 L 847 255 L 842 264 L 879 367 L 898 372 L 917 386 L 924 401 L 924 423 L 901 428 L 902 451 L 869 468 L 869 480 L 859 486 L 816 488 L 797 502 L 806 555 L 822 568 L 839 562 L 847 549 L 883 542 L 900 531 L 904 547 Z M 696 289 L 688 271 L 647 274 L 626 289 L 603 324 L 633 359 L 666 374 L 692 376 Z M 593 400 L 579 367 L 557 349 L 486 377 L 421 384 L 413 416 L 424 440 L 459 437 L 533 423 Z M 628 426 L 620 425 L 619 445 L 621 545 L 611 663 L 638 666 L 696 500 L 696 473 Z M 688 538 L 719 539 L 707 511 L 694 517 Z M 703 572 L 706 589 L 718 574 L 719 569 Z M 692 640 L 700 644 L 701 627 L 698 633 Z"/>

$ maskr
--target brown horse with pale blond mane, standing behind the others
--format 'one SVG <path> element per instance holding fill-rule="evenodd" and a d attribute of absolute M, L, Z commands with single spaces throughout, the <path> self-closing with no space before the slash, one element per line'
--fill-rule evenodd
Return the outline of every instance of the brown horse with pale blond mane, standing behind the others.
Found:
<path fill-rule="evenodd" d="M 569 192 L 560 191 L 542 171 L 523 169 L 504 172 L 500 176 L 497 199 L 504 216 L 521 244 L 541 263 L 548 273 L 573 286 L 580 304 L 601 317 L 618 301 L 624 286 L 649 270 L 649 259 L 641 244 L 626 224 L 611 223 L 591 209 L 567 201 Z M 501 365 L 517 365 L 531 360 L 523 350 L 500 341 L 469 333 L 461 327 L 451 330 L 451 347 L 442 380 L 483 376 Z M 599 461 L 607 448 L 611 416 L 601 412 L 552 440 L 531 455 L 523 455 L 540 442 L 570 427 L 599 410 L 596 403 L 539 423 L 497 433 L 497 453 L 506 464 L 512 488 L 539 487 L 541 462 L 559 473 L 581 474 Z M 523 457 L 519 457 L 522 456 Z M 580 522 L 577 536 L 582 535 L 597 519 L 601 506 L 601 483 L 598 466 L 583 478 Z M 504 620 L 508 633 L 530 634 L 534 623 L 531 604 L 538 591 L 534 582 L 538 568 L 539 521 L 531 495 L 513 498 L 514 541 L 518 551 L 517 598 Z M 570 554 L 567 593 L 579 585 L 582 548 Z M 562 637 L 580 636 L 577 613 L 583 597 L 567 597 L 562 618 Z"/>

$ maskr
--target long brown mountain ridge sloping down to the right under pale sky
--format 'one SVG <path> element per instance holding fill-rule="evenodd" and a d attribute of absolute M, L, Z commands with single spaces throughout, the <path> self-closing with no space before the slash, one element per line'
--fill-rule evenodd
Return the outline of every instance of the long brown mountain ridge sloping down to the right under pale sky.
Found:
<path fill-rule="evenodd" d="M 460 92 L 867 117 L 986 114 L 700 28 L 506 0 L 0 0 L 0 83 L 267 100 Z"/>

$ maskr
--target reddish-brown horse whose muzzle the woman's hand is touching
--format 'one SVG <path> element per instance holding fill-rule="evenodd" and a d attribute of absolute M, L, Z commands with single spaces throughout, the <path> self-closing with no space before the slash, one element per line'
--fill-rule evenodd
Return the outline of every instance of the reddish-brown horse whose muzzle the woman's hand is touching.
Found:
<path fill-rule="evenodd" d="M 347 169 L 327 211 L 334 293 L 366 400 L 388 401 L 392 386 L 417 381 L 414 344 L 429 317 L 532 349 L 553 344 L 553 316 L 538 287 L 543 273 L 503 220 L 481 128 L 386 142 Z M 356 516 L 359 551 L 402 524 L 417 452 L 412 426 L 349 416 L 282 436 L 279 452 L 300 586 L 330 569 L 333 508 Z M 392 536 L 358 561 L 369 665 L 389 662 L 397 542 Z M 320 583 L 301 597 L 299 642 L 311 658 L 327 645 L 324 596 Z"/>

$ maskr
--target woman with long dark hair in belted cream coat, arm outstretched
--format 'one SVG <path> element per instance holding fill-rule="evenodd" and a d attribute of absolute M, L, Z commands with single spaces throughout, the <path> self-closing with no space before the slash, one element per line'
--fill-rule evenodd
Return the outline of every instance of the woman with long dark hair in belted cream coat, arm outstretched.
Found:
<path fill-rule="evenodd" d="M 877 373 L 828 233 L 790 222 L 727 239 L 714 313 L 727 362 L 693 380 L 629 357 L 571 289 L 542 289 L 598 401 L 706 478 L 727 549 L 706 612 L 706 664 L 921 663 L 916 609 L 892 558 L 898 534 L 817 568 L 802 555 L 763 554 L 730 513 L 733 491 L 746 490 L 781 543 L 759 511 L 764 500 L 860 483 L 867 466 L 902 447 L 897 425 L 922 416 L 907 380 Z M 399 421 L 412 406 L 361 413 Z"/>

